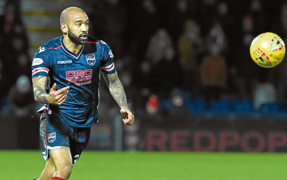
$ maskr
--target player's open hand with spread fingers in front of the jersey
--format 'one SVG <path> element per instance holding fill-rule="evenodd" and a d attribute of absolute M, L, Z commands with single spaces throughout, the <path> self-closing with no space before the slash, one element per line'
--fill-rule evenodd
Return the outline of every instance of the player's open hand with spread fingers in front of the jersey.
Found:
<path fill-rule="evenodd" d="M 60 90 L 56 90 L 56 83 L 54 83 L 53 87 L 50 90 L 49 95 L 47 96 L 48 104 L 52 105 L 62 105 L 67 99 L 68 89 L 70 87 L 66 86 Z"/>

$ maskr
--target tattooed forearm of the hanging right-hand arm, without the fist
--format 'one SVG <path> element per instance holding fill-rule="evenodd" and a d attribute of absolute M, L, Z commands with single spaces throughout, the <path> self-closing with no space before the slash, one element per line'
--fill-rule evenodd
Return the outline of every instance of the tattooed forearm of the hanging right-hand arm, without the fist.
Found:
<path fill-rule="evenodd" d="M 118 79 L 117 73 L 107 76 L 109 79 L 109 89 L 112 96 L 114 97 L 120 108 L 127 107 L 128 105 L 126 94 L 124 92 L 121 82 Z"/>

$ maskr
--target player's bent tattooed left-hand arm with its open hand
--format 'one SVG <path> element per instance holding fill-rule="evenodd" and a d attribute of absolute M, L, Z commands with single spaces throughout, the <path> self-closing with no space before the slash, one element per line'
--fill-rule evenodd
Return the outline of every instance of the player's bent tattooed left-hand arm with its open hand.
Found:
<path fill-rule="evenodd" d="M 53 87 L 48 94 L 46 92 L 46 85 L 48 79 L 44 75 L 35 76 L 33 78 L 33 90 L 34 97 L 37 102 L 44 104 L 54 104 L 54 105 L 62 105 L 64 101 L 67 99 L 68 89 L 69 87 L 62 88 L 60 90 L 56 90 L 56 83 L 54 83 Z"/>

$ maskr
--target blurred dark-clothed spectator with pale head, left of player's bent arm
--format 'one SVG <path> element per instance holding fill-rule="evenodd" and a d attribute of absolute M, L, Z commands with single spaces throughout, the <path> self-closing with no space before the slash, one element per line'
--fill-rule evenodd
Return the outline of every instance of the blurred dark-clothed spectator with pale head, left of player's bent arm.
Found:
<path fill-rule="evenodd" d="M 2 113 L 19 117 L 35 113 L 36 103 L 30 79 L 26 75 L 17 78 L 16 84 L 9 90 L 8 104 L 3 107 Z"/>

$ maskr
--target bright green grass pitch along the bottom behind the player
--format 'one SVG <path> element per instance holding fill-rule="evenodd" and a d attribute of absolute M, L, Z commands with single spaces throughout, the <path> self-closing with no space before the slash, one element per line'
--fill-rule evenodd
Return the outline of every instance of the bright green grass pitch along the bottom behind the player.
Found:
<path fill-rule="evenodd" d="M 41 151 L 0 150 L 0 180 L 38 178 Z M 69 180 L 286 180 L 286 153 L 84 151 Z"/>

